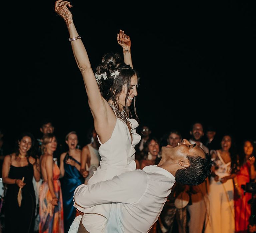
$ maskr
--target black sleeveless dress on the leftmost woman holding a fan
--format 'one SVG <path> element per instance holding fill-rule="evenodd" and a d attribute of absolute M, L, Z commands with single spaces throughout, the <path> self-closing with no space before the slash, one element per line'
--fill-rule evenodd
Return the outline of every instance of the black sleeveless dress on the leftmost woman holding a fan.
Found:
<path fill-rule="evenodd" d="M 32 183 L 34 169 L 31 163 L 24 167 L 10 166 L 9 178 L 22 179 L 26 185 L 21 189 L 22 201 L 19 207 L 17 184 L 8 184 L 5 197 L 5 232 L 34 232 L 35 191 Z"/>

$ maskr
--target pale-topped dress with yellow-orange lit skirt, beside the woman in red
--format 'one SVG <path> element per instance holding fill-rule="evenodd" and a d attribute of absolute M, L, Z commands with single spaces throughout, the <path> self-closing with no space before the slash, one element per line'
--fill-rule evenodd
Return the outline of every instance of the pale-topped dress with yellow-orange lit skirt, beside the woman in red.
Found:
<path fill-rule="evenodd" d="M 221 179 L 231 174 L 231 162 L 225 163 L 218 150 L 213 166 L 217 169 L 215 174 Z M 234 186 L 233 180 L 225 183 L 210 178 L 209 185 L 209 221 L 206 220 L 205 233 L 234 233 Z"/>

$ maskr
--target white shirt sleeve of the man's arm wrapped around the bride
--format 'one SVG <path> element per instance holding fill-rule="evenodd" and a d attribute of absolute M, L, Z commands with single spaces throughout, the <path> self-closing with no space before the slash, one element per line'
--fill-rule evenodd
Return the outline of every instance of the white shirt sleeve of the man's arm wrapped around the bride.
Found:
<path fill-rule="evenodd" d="M 148 178 L 144 171 L 135 170 L 96 184 L 81 184 L 75 190 L 75 206 L 89 208 L 106 203 L 134 203 L 144 194 Z"/>

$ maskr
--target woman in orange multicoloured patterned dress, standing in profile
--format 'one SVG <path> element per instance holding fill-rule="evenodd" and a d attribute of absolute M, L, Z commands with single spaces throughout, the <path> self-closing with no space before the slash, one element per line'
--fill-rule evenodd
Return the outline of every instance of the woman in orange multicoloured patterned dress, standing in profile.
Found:
<path fill-rule="evenodd" d="M 40 157 L 43 183 L 39 193 L 39 233 L 64 232 L 60 169 L 53 160 L 56 147 L 56 137 L 51 133 L 45 134 L 42 138 L 44 151 Z"/>

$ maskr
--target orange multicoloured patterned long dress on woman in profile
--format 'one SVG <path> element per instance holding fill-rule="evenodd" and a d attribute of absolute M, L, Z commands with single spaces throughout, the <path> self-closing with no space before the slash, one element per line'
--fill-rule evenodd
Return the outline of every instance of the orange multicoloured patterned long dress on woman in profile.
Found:
<path fill-rule="evenodd" d="M 58 205 L 52 205 L 52 195 L 49 190 L 48 182 L 43 181 L 39 193 L 39 233 L 63 233 L 63 205 L 61 185 L 59 181 L 60 169 L 53 163 L 53 188 L 56 197 L 59 199 Z"/>

